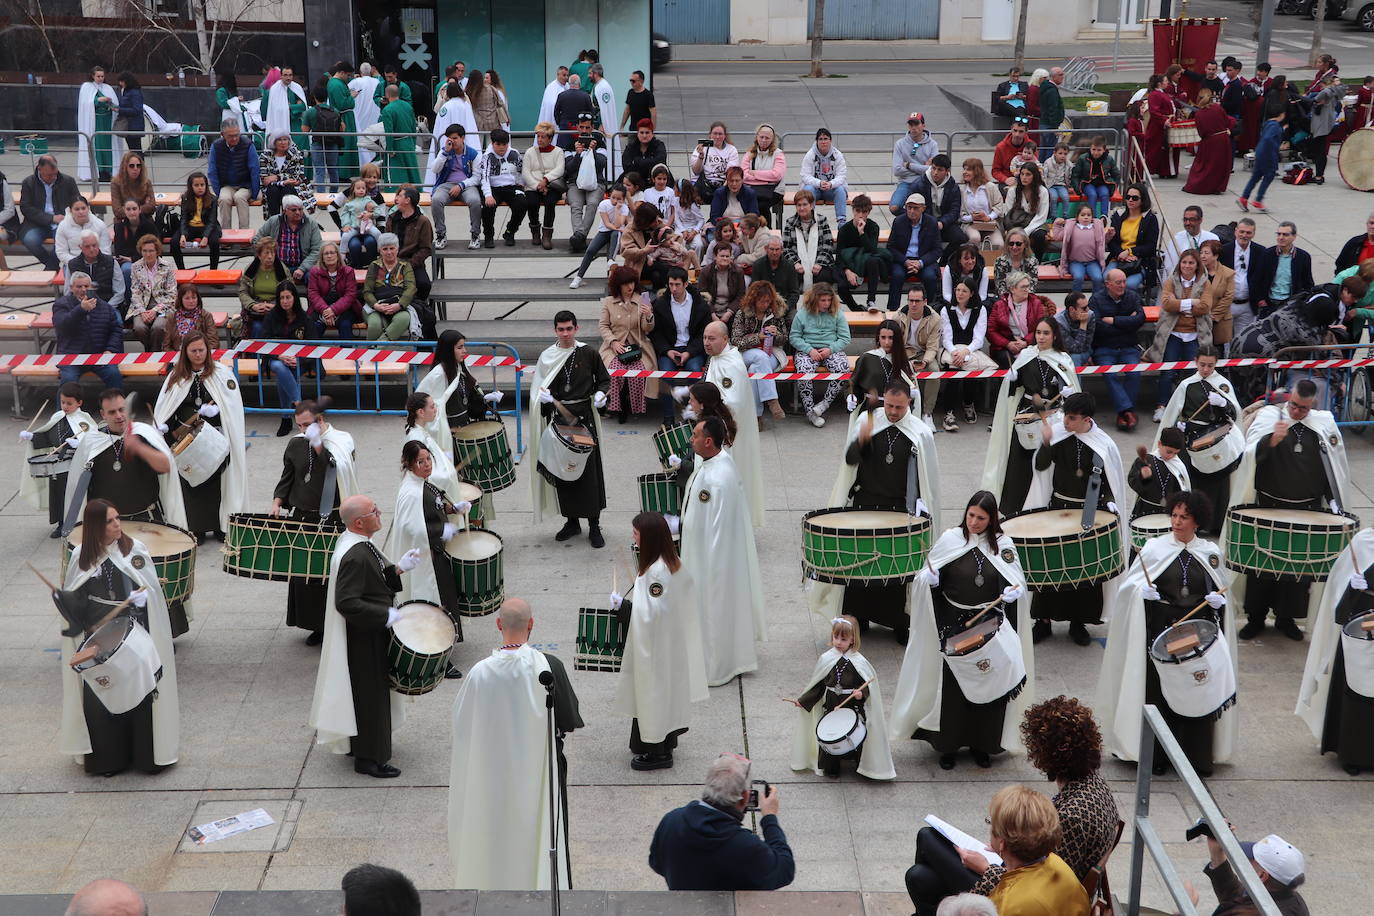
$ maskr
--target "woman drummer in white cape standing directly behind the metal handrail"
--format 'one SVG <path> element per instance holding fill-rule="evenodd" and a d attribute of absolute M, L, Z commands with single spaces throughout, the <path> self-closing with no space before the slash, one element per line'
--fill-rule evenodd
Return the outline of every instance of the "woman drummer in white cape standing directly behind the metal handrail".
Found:
<path fill-rule="evenodd" d="M 1117 580 L 1092 707 L 1107 750 L 1134 761 L 1140 753 L 1140 710 L 1153 703 L 1193 768 L 1210 776 L 1213 764 L 1230 762 L 1235 748 L 1235 629 L 1223 611 L 1220 549 L 1198 537 L 1212 507 L 1201 493 L 1178 493 L 1167 508 L 1172 531 L 1146 541 Z M 1201 621 L 1210 633 L 1200 633 L 1201 643 L 1190 647 L 1187 622 L 1169 628 L 1194 610 L 1190 621 Z M 1154 773 L 1162 775 L 1168 765 L 1156 742 Z"/>

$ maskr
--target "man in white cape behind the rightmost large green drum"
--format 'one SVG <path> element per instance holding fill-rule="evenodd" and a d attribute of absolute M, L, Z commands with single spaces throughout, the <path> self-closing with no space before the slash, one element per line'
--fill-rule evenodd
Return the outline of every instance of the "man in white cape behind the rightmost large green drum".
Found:
<path fill-rule="evenodd" d="M 1259 505 L 1278 509 L 1340 512 L 1341 483 L 1351 479 L 1345 460 L 1345 439 L 1329 411 L 1316 411 L 1316 383 L 1300 379 L 1287 404 L 1271 404 L 1250 417 L 1245 433 L 1245 457 L 1235 477 L 1237 507 Z M 1232 514 L 1227 514 L 1223 541 L 1228 537 Z M 1232 600 L 1245 607 L 1246 623 L 1241 639 L 1264 632 L 1268 612 L 1274 629 L 1301 641 L 1294 618 L 1305 618 L 1322 600 L 1307 581 L 1282 581 L 1270 575 L 1246 575 L 1237 582 Z M 1242 600 L 1243 599 L 1243 600 Z"/>

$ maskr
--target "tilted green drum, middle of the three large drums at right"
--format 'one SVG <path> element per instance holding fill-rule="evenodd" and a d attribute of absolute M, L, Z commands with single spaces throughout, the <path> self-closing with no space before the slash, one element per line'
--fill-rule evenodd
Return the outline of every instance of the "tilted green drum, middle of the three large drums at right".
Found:
<path fill-rule="evenodd" d="M 1002 523 L 1017 545 L 1029 589 L 1057 592 L 1095 585 L 1125 567 L 1120 519 L 1098 509 L 1087 531 L 1081 520 L 1083 509 L 1035 509 Z"/>

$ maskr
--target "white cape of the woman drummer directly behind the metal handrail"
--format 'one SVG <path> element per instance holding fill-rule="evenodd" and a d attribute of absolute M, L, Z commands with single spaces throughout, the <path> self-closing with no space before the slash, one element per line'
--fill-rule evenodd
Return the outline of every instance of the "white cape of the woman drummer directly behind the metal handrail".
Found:
<path fill-rule="evenodd" d="M 1107 595 L 1107 647 L 1102 655 L 1102 670 L 1098 674 L 1098 696 L 1092 705 L 1106 750 L 1120 759 L 1135 761 L 1140 754 L 1140 715 L 1145 709 L 1145 666 L 1153 665 L 1145 641 L 1145 573 L 1150 581 L 1169 567 L 1173 559 L 1187 549 L 1198 566 L 1206 570 L 1213 589 L 1226 588 L 1226 571 L 1221 569 L 1221 553 L 1212 541 L 1194 537 L 1184 547 L 1172 534 L 1153 537 L 1145 542 L 1139 556 L 1124 575 L 1117 577 L 1114 591 Z M 1201 596 L 1198 596 L 1201 600 Z M 1235 604 L 1234 593 L 1227 595 L 1227 604 Z M 1228 615 L 1226 607 L 1217 615 Z M 1232 615 L 1234 617 L 1234 615 Z M 1227 621 L 1226 644 L 1231 650 L 1231 665 L 1238 663 L 1235 626 Z M 1227 764 L 1235 750 L 1235 735 L 1239 726 L 1237 709 L 1226 710 L 1213 726 L 1217 764 Z"/>

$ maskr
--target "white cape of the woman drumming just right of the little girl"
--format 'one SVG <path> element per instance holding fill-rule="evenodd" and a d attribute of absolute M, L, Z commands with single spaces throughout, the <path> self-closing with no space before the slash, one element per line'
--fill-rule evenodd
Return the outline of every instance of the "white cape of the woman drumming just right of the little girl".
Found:
<path fill-rule="evenodd" d="M 1010 536 L 998 537 L 998 549 L 988 549 L 987 536 L 966 538 L 963 529 L 951 527 L 930 548 L 926 562 L 938 571 L 951 560 L 963 556 L 969 549 L 977 549 L 987 558 L 998 574 L 1010 585 L 1025 591 L 1026 577 L 1021 570 L 1015 542 Z M 1011 559 L 1006 559 L 1010 556 Z M 1035 698 L 1035 648 L 1030 640 L 1030 596 L 1024 595 L 1017 602 L 1017 617 L 1021 623 L 1017 637 L 1021 641 L 1021 661 L 1025 663 L 1026 681 L 1009 703 L 1002 720 L 1002 747 L 1007 753 L 1020 753 L 1021 718 Z M 1006 626 L 1010 626 L 1010 621 Z M 897 676 L 897 692 L 892 700 L 892 740 L 908 740 L 918 728 L 930 732 L 940 731 L 940 702 L 944 689 L 944 654 L 940 651 L 940 628 L 936 625 L 934 602 L 925 577 L 918 575 L 911 584 L 911 639 L 901 658 L 901 673 Z"/>

